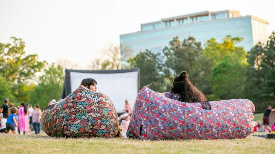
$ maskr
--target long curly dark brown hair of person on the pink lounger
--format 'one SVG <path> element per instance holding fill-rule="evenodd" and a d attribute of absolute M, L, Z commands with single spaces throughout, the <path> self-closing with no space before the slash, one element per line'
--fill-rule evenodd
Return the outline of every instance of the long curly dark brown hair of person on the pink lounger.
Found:
<path fill-rule="evenodd" d="M 181 102 L 207 101 L 204 94 L 190 82 L 186 71 L 181 72 L 174 78 L 170 92 L 177 94 Z"/>

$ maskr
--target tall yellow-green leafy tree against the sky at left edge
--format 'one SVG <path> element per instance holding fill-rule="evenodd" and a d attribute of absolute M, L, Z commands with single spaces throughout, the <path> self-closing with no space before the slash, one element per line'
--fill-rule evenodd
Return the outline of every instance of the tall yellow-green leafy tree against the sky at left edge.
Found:
<path fill-rule="evenodd" d="M 11 37 L 11 40 L 13 44 L 0 43 L 0 73 L 15 86 L 14 83 L 32 79 L 44 67 L 45 61 L 38 61 L 37 54 L 26 55 L 25 42 L 21 38 Z"/>

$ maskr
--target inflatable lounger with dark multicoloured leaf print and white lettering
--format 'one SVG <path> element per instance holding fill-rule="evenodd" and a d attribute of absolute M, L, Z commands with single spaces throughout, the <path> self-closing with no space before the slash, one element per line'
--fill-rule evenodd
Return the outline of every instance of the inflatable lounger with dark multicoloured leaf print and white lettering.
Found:
<path fill-rule="evenodd" d="M 114 137 L 118 133 L 113 102 L 82 85 L 61 102 L 46 107 L 41 124 L 47 135 L 55 137 Z"/>

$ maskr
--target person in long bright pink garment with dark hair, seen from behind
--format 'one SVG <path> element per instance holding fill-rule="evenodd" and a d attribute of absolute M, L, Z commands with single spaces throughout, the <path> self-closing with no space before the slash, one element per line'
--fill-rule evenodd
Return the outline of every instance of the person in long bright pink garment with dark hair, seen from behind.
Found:
<path fill-rule="evenodd" d="M 20 134 L 20 131 L 23 131 L 23 134 L 29 131 L 30 126 L 29 126 L 29 120 L 28 120 L 28 108 L 27 106 L 25 106 L 24 103 L 22 103 L 18 109 L 17 124 L 18 124 L 19 134 Z"/>

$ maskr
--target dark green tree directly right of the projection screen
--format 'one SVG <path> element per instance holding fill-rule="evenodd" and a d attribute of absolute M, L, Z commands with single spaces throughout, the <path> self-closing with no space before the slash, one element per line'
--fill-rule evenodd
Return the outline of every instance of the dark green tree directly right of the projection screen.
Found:
<path fill-rule="evenodd" d="M 140 68 L 140 89 L 147 86 L 157 92 L 164 91 L 160 53 L 154 54 L 150 50 L 146 50 L 129 59 L 128 62 L 131 68 Z"/>

